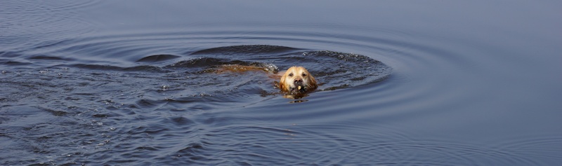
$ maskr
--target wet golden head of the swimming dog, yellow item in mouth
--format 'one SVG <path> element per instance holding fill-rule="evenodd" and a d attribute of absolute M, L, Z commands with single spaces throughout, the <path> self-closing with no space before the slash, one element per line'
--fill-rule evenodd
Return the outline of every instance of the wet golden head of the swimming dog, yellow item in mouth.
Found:
<path fill-rule="evenodd" d="M 289 93 L 304 93 L 317 88 L 316 80 L 304 67 L 291 67 L 279 81 L 279 88 Z"/>

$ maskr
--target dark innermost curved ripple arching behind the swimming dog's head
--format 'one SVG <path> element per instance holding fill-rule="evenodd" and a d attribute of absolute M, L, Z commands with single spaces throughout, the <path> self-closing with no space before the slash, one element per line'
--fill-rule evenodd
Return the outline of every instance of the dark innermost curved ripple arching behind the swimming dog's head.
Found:
<path fill-rule="evenodd" d="M 336 90 L 375 83 L 391 74 L 391 67 L 378 60 L 364 55 L 329 50 L 306 51 L 284 46 L 246 45 L 210 48 L 191 55 L 198 57 L 176 62 L 166 68 L 187 69 L 188 73 L 200 74 L 204 69 L 221 64 L 254 66 L 273 64 L 280 70 L 302 66 L 311 71 L 319 81 L 320 90 Z"/>

